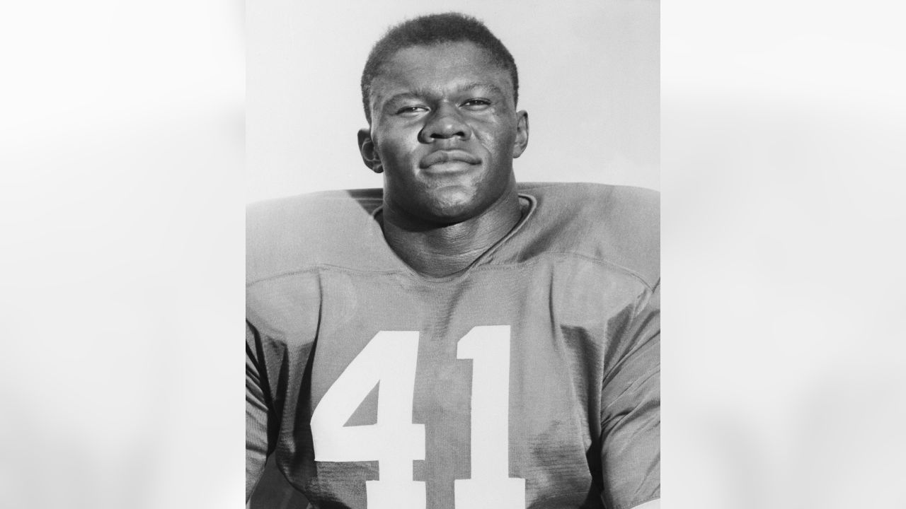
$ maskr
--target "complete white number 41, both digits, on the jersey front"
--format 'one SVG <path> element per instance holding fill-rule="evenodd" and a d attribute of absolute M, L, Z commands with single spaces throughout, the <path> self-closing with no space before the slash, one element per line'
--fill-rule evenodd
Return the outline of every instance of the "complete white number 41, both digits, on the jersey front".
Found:
<path fill-rule="evenodd" d="M 424 509 L 425 483 L 412 461 L 425 459 L 425 426 L 412 424 L 419 332 L 380 331 L 333 382 L 312 414 L 316 461 L 378 461 L 366 481 L 368 509 Z M 508 325 L 475 327 L 457 359 L 472 360 L 471 477 L 454 481 L 459 509 L 523 509 L 525 479 L 509 476 Z M 343 426 L 376 384 L 378 422 Z"/>

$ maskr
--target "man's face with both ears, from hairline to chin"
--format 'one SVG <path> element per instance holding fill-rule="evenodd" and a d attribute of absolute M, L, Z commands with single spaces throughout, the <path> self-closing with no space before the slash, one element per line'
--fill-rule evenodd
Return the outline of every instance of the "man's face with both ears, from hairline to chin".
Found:
<path fill-rule="evenodd" d="M 528 142 L 508 72 L 474 43 L 397 52 L 371 85 L 371 130 L 359 143 L 384 174 L 384 202 L 431 223 L 479 216 L 513 192 Z"/>

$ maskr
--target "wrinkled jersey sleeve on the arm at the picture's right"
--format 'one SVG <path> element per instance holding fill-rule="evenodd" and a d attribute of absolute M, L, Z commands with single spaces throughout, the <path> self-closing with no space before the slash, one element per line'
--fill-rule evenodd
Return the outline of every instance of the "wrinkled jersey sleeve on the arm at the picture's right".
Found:
<path fill-rule="evenodd" d="M 642 301 L 602 385 L 602 498 L 609 509 L 660 498 L 660 284 Z"/>

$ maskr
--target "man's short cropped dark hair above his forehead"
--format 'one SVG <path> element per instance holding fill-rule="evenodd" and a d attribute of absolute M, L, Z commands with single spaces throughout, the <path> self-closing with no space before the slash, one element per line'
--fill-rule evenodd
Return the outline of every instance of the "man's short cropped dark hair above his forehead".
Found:
<path fill-rule="evenodd" d="M 361 73 L 361 102 L 365 107 L 365 119 L 371 124 L 371 82 L 381 73 L 381 66 L 400 50 L 412 46 L 430 46 L 439 43 L 467 41 L 483 48 L 493 62 L 506 72 L 513 81 L 513 101 L 519 100 L 519 76 L 516 61 L 485 24 L 467 14 L 428 14 L 404 21 L 390 27 L 387 34 L 374 44 L 365 70 Z"/>

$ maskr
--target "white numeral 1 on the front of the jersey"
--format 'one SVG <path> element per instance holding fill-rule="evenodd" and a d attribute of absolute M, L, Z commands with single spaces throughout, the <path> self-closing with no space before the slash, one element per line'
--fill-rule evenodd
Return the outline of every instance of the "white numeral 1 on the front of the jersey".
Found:
<path fill-rule="evenodd" d="M 459 340 L 457 359 L 472 360 L 472 477 L 454 482 L 457 507 L 525 508 L 525 479 L 509 476 L 509 343 L 509 325 Z"/>

